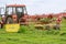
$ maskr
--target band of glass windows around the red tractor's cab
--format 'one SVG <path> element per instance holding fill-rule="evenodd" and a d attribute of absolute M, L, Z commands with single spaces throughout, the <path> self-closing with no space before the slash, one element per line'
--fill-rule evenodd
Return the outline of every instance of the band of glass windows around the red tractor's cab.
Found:
<path fill-rule="evenodd" d="M 24 15 L 26 13 L 26 8 L 25 7 L 7 7 L 7 14 L 16 14 L 19 16 Z"/>

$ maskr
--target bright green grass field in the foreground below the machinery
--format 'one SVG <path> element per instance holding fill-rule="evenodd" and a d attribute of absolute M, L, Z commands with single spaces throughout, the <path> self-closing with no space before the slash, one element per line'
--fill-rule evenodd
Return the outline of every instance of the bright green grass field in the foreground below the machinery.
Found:
<path fill-rule="evenodd" d="M 21 26 L 21 33 L 8 33 L 0 29 L 0 44 L 66 44 L 66 21 L 63 20 L 62 24 L 61 31 L 36 30 L 33 25 Z"/>

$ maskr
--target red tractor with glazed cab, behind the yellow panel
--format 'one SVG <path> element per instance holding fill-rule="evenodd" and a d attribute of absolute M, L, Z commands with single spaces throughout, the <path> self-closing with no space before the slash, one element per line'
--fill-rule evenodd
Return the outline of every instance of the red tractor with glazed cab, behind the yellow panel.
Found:
<path fill-rule="evenodd" d="M 4 24 L 20 23 L 26 24 L 26 8 L 24 4 L 8 4 L 6 6 L 4 15 L 2 15 L 2 22 Z"/>

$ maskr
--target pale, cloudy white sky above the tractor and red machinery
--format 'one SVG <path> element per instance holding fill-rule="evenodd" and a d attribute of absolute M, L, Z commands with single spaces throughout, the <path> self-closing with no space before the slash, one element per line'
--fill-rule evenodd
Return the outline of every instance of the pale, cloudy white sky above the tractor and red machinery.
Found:
<path fill-rule="evenodd" d="M 59 13 L 66 10 L 66 0 L 0 0 L 6 4 L 25 4 L 29 14 Z"/>

